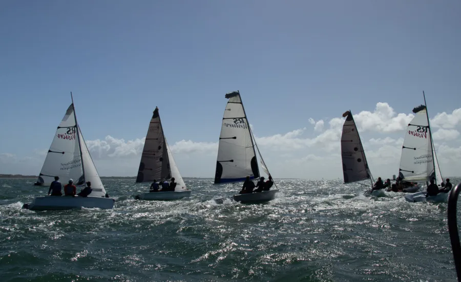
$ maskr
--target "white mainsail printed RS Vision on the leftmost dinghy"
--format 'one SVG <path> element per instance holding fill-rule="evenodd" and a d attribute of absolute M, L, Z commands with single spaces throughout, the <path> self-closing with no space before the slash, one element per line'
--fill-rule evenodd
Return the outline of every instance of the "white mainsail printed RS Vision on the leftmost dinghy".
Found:
<path fill-rule="evenodd" d="M 56 130 L 41 168 L 38 183 L 50 185 L 54 177 L 58 176 L 62 183 L 73 179 L 76 185 L 83 184 L 83 171 L 75 128 L 74 109 L 71 104 Z"/>

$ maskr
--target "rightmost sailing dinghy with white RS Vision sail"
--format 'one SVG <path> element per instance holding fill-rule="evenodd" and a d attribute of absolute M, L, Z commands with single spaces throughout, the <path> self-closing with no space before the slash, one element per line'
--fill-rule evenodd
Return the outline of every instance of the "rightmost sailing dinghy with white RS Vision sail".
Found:
<path fill-rule="evenodd" d="M 427 113 L 426 97 L 423 92 L 424 105 L 413 109 L 414 118 L 408 124 L 405 140 L 402 146 L 399 177 L 403 181 L 418 184 L 428 183 L 435 179 L 435 184 L 441 186 L 444 182 L 442 173 L 438 166 L 435 147 L 432 141 L 432 133 Z M 420 189 L 420 185 L 417 186 Z M 409 191 L 408 188 L 405 189 Z M 408 202 L 445 202 L 448 193 L 439 193 L 437 196 L 427 197 L 425 191 L 407 194 L 405 200 Z"/>

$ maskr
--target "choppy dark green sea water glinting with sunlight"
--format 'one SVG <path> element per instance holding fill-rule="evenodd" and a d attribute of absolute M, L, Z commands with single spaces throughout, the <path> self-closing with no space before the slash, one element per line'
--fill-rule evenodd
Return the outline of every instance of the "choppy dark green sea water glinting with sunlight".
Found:
<path fill-rule="evenodd" d="M 340 180 L 277 181 L 266 204 L 218 204 L 240 186 L 189 180 L 190 199 L 148 202 L 114 179 L 113 210 L 23 210 L 48 192 L 34 180 L 0 179 L 2 282 L 456 281 L 446 203 Z"/>

